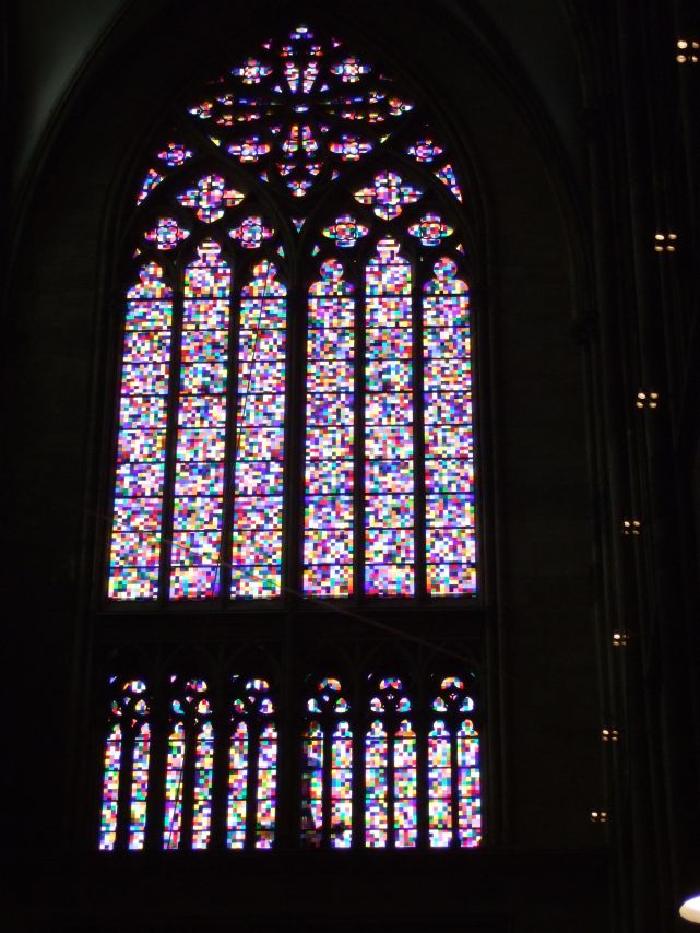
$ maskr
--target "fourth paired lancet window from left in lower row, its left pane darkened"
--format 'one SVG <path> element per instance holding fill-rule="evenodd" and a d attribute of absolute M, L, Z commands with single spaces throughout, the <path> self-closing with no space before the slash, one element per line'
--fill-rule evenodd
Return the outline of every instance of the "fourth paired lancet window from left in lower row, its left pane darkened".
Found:
<path fill-rule="evenodd" d="M 353 842 L 353 731 L 341 682 L 323 677 L 307 700 L 301 772 L 301 841 L 348 849 Z"/>

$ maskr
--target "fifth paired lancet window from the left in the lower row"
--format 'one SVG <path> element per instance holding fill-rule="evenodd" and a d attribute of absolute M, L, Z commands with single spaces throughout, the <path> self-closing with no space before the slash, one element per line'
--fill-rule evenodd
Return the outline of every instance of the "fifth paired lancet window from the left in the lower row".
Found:
<path fill-rule="evenodd" d="M 399 677 L 376 677 L 365 737 L 365 843 L 412 849 L 418 839 L 417 746 Z"/>

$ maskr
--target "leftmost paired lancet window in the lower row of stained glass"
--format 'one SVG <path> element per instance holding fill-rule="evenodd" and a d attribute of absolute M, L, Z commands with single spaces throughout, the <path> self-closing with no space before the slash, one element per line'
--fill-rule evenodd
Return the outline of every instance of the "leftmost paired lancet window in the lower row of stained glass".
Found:
<path fill-rule="evenodd" d="M 151 700 L 143 681 L 110 677 L 99 848 L 143 849 L 151 757 Z M 126 816 L 128 814 L 128 816 Z"/>

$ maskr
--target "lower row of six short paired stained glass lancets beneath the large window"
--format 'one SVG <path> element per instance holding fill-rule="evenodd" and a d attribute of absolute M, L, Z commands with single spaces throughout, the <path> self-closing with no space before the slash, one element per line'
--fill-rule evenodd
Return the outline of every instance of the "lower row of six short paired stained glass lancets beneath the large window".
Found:
<path fill-rule="evenodd" d="M 142 680 L 110 678 L 99 849 L 272 849 L 280 710 L 265 680 L 170 678 L 154 720 Z M 310 682 L 285 768 L 307 848 L 472 848 L 480 840 L 479 732 L 463 676 L 436 678 L 418 708 L 398 676 L 370 675 L 359 714 L 341 682 Z M 221 709 L 214 707 L 221 706 Z M 286 721 L 286 720 L 285 720 Z"/>

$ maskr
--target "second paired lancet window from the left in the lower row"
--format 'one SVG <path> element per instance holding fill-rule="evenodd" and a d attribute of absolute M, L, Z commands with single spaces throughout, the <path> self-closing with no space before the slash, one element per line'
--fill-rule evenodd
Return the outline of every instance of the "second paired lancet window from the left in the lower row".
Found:
<path fill-rule="evenodd" d="M 214 770 L 209 686 L 201 680 L 189 680 L 180 686 L 175 675 L 170 683 L 163 848 L 206 849 Z"/>

